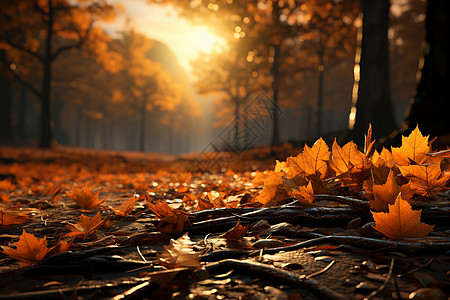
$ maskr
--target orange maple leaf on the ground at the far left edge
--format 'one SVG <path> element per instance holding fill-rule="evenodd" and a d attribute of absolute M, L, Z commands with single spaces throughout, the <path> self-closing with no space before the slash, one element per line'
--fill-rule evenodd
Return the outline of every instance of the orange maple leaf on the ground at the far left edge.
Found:
<path fill-rule="evenodd" d="M 44 236 L 42 239 L 38 239 L 32 234 L 26 233 L 25 230 L 23 230 L 19 241 L 14 244 L 16 249 L 2 246 L 2 252 L 25 264 L 33 264 L 43 260 L 49 251 L 47 249 L 47 237 Z"/>

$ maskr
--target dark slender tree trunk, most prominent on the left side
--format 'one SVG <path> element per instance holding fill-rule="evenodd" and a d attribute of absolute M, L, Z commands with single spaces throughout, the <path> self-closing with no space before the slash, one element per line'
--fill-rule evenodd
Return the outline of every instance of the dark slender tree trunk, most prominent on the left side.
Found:
<path fill-rule="evenodd" d="M 53 6 L 52 0 L 48 0 L 48 20 L 47 36 L 45 41 L 44 54 L 44 78 L 42 81 L 41 100 L 41 138 L 39 146 L 41 148 L 51 148 L 55 145 L 54 121 L 53 121 L 53 102 L 51 98 L 51 72 L 52 72 L 52 35 L 53 35 Z"/>

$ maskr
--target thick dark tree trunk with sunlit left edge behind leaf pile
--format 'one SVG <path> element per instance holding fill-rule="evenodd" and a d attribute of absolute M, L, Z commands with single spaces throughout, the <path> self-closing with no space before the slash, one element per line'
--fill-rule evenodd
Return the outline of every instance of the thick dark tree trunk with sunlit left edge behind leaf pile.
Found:
<path fill-rule="evenodd" d="M 374 138 L 383 137 L 396 127 L 389 96 L 389 6 L 389 0 L 362 0 L 361 80 L 356 122 L 349 136 L 358 144 L 362 144 L 369 123 L 373 125 Z"/>

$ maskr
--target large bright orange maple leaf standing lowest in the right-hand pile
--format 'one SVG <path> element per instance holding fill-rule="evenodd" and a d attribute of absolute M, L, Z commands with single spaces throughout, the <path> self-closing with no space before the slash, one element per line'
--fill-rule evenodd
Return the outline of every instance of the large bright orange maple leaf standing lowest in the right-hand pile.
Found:
<path fill-rule="evenodd" d="M 422 210 L 412 210 L 408 201 L 398 195 L 395 203 L 389 205 L 389 212 L 372 212 L 374 228 L 393 240 L 422 238 L 430 233 L 434 225 L 420 222 Z"/>

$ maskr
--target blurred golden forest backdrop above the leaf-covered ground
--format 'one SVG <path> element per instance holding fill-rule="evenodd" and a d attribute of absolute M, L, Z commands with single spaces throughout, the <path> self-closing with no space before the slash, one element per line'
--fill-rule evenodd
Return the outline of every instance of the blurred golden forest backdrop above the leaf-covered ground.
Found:
<path fill-rule="evenodd" d="M 56 137 L 66 145 L 182 153 L 202 150 L 223 128 L 234 132 L 228 146 L 237 149 L 238 136 L 249 139 L 246 147 L 300 144 L 318 136 L 357 139 L 369 122 L 382 138 L 400 126 L 414 95 L 401 131 L 425 123 L 425 134 L 448 132 L 444 117 L 441 124 L 414 113 L 426 107 L 431 115 L 446 105 L 439 100 L 428 106 L 423 99 L 445 94 L 447 4 L 141 1 L 152 2 L 206 25 L 222 43 L 199 53 L 186 70 L 172 49 L 142 28 L 126 23 L 115 33 L 105 31 L 107 21 L 133 18 L 124 14 L 131 3 L 5 2 L 0 139 L 28 143 L 39 136 L 39 145 L 50 147 Z M 435 21 L 427 23 L 422 47 L 427 3 Z M 420 60 L 422 49 L 429 63 Z M 432 75 L 416 76 L 418 69 Z"/>

